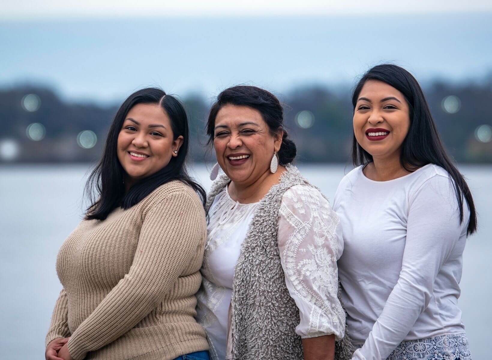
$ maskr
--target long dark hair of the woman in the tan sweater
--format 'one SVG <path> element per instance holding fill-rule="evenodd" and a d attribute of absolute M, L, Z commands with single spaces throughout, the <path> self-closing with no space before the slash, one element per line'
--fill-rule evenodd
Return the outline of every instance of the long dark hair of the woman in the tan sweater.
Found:
<path fill-rule="evenodd" d="M 174 140 L 180 135 L 184 139 L 178 156 L 172 156 L 165 167 L 136 182 L 125 193 L 123 184 L 125 172 L 117 156 L 118 134 L 126 115 L 137 104 L 159 104 L 171 120 Z M 191 186 L 198 193 L 205 206 L 205 190 L 188 175 L 186 170 L 188 139 L 188 118 L 183 104 L 176 97 L 167 95 L 163 90 L 156 88 L 138 90 L 128 96 L 111 123 L 101 160 L 87 180 L 85 190 L 91 206 L 87 209 L 85 218 L 103 220 L 118 207 L 131 208 L 158 186 L 172 180 L 180 180 Z"/>

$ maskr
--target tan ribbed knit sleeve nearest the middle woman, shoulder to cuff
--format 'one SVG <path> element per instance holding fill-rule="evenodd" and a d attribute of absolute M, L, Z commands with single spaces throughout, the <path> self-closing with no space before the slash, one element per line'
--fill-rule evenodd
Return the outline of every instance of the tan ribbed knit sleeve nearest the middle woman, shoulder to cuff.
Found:
<path fill-rule="evenodd" d="M 169 293 L 196 254 L 205 222 L 196 198 L 174 192 L 144 216 L 129 272 L 68 341 L 75 360 L 84 359 L 87 352 L 111 343 L 137 325 Z"/>

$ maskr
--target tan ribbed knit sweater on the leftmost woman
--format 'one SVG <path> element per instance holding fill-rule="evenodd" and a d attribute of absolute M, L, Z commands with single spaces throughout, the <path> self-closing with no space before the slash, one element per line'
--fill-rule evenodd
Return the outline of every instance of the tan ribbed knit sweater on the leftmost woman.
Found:
<path fill-rule="evenodd" d="M 75 360 L 171 360 L 208 350 L 195 293 L 207 236 L 196 193 L 180 181 L 107 219 L 83 220 L 63 242 L 63 289 L 46 344 L 70 336 Z"/>

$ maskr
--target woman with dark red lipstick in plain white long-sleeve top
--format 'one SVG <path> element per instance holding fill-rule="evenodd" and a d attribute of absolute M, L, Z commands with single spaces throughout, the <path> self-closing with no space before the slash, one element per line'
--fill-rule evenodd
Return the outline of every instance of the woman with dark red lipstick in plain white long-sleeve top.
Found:
<path fill-rule="evenodd" d="M 338 261 L 357 360 L 470 360 L 458 307 L 473 199 L 415 78 L 370 69 L 354 90 L 352 158 L 334 201 Z"/>

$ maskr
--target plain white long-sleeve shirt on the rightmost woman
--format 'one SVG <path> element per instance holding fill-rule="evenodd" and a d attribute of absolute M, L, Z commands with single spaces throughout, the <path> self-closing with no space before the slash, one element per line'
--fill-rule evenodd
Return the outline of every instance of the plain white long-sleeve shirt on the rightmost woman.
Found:
<path fill-rule="evenodd" d="M 362 167 L 338 186 L 344 251 L 338 261 L 353 359 L 386 359 L 403 340 L 461 333 L 462 253 L 469 210 L 448 173 L 429 164 L 389 181 Z"/>

